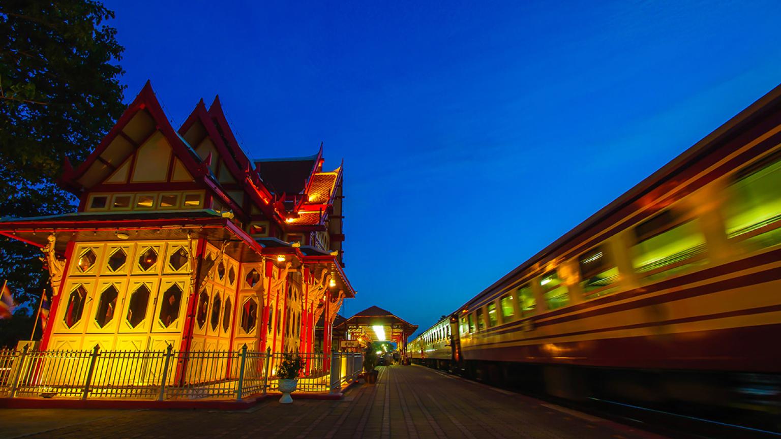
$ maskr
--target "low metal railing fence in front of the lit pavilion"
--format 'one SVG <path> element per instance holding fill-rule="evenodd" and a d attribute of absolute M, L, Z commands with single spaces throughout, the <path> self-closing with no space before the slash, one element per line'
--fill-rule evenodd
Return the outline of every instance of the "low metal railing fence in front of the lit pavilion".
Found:
<path fill-rule="evenodd" d="M 301 355 L 297 391 L 338 391 L 356 380 L 362 355 Z M 0 397 L 241 399 L 278 389 L 284 354 L 239 351 L 0 350 Z"/>

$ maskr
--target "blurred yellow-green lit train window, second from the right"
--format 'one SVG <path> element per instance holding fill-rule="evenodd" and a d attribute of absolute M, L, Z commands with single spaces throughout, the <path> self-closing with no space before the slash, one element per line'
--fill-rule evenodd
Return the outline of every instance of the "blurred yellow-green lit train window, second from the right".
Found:
<path fill-rule="evenodd" d="M 670 210 L 635 227 L 634 266 L 651 280 L 681 273 L 704 259 L 705 237 L 697 222 Z"/>

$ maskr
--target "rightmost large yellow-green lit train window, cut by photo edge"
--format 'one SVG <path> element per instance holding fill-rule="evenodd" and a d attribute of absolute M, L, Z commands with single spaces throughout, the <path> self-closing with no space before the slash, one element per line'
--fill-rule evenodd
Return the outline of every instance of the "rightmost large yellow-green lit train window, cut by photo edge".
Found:
<path fill-rule="evenodd" d="M 740 171 L 729 186 L 727 236 L 753 249 L 781 244 L 781 153 Z"/>

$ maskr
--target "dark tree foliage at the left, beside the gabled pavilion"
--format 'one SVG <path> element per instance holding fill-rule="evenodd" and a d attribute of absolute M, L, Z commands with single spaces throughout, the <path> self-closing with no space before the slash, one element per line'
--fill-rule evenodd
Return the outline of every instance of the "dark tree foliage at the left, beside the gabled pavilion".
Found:
<path fill-rule="evenodd" d="M 92 0 L 0 2 L 0 216 L 75 209 L 55 183 L 63 159 L 83 160 L 124 108 L 124 48 L 105 24 L 113 17 Z M 39 256 L 0 239 L 0 281 L 9 280 L 17 302 L 45 286 Z"/>

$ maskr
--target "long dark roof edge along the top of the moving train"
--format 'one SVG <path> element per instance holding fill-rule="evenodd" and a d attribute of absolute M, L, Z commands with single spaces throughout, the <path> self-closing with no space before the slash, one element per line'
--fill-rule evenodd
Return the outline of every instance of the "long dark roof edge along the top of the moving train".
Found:
<path fill-rule="evenodd" d="M 469 307 L 469 305 L 472 305 L 474 302 L 479 301 L 488 294 L 496 291 L 497 288 L 506 286 L 506 284 L 510 283 L 515 278 L 515 276 L 517 276 L 519 273 L 522 273 L 530 266 L 533 266 L 534 263 L 540 261 L 540 259 L 544 259 L 545 257 L 555 253 L 559 248 L 562 248 L 564 244 L 569 243 L 569 241 L 572 241 L 576 237 L 579 237 L 581 234 L 589 230 L 590 227 L 594 227 L 594 225 L 601 221 L 601 219 L 610 216 L 613 212 L 626 207 L 626 205 L 630 205 L 631 203 L 636 202 L 638 198 L 646 195 L 648 192 L 658 187 L 666 180 L 675 177 L 676 174 L 678 174 L 681 170 L 685 170 L 692 162 L 700 159 L 704 155 L 707 155 L 713 149 L 718 148 L 719 145 L 723 145 L 726 141 L 732 140 L 734 137 L 739 135 L 742 130 L 761 119 L 761 117 L 767 116 L 770 112 L 779 109 L 779 106 L 781 106 L 781 84 L 774 87 L 761 98 L 758 98 L 754 103 L 747 106 L 747 108 L 741 112 L 737 113 L 736 116 L 733 116 L 726 123 L 723 123 L 720 127 L 713 130 L 711 134 L 703 137 L 690 148 L 687 148 L 686 151 L 677 155 L 665 166 L 662 166 L 656 172 L 652 173 L 644 180 L 641 180 L 640 183 L 624 192 L 621 196 L 619 196 L 619 198 L 615 198 L 613 202 L 604 206 L 593 215 L 589 216 L 582 223 L 578 224 L 576 227 L 573 227 L 572 230 L 569 230 L 569 232 L 562 235 L 562 237 L 559 237 L 551 244 L 548 244 L 547 247 L 540 250 L 540 252 L 537 252 L 537 254 L 533 255 L 530 259 L 526 259 L 525 262 L 522 262 L 519 266 L 515 267 L 515 269 L 512 269 L 512 271 L 505 274 L 505 276 L 501 277 L 501 279 L 494 282 L 494 284 L 491 284 L 490 287 L 480 291 L 479 294 L 469 299 L 469 301 L 465 302 L 464 305 L 458 307 L 458 309 L 453 312 L 453 314 L 458 313 L 458 311 L 461 309 Z"/>

